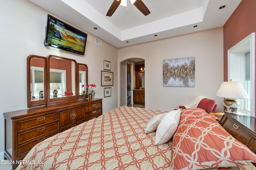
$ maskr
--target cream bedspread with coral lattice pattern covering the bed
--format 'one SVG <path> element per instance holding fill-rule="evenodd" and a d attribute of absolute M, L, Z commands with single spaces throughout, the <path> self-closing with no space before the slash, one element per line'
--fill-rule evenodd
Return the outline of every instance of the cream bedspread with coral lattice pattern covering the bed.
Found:
<path fill-rule="evenodd" d="M 171 140 L 155 146 L 156 131 L 144 133 L 162 113 L 167 111 L 118 107 L 38 143 L 17 170 L 171 170 Z M 254 166 L 219 170 L 231 169 Z"/>

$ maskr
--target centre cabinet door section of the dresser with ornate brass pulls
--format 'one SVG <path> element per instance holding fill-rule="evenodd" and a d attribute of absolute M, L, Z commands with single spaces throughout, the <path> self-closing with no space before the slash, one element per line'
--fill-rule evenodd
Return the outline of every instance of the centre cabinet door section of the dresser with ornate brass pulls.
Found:
<path fill-rule="evenodd" d="M 84 107 L 60 112 L 60 127 L 72 125 L 85 119 Z"/>

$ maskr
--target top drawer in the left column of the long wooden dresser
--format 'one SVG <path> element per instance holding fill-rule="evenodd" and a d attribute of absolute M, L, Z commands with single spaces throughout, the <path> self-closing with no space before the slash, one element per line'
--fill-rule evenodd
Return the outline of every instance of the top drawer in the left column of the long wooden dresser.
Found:
<path fill-rule="evenodd" d="M 25 121 L 18 122 L 18 132 L 26 129 L 31 129 L 40 125 L 44 125 L 46 123 L 50 123 L 53 121 L 57 121 L 59 119 L 58 113 L 45 115 L 41 117 L 35 117 L 32 119 L 27 119 Z"/>

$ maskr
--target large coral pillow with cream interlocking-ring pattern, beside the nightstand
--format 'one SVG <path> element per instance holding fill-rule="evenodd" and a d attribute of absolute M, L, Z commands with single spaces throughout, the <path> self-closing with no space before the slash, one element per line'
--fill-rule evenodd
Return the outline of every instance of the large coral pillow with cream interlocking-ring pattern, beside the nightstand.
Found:
<path fill-rule="evenodd" d="M 256 162 L 256 154 L 200 108 L 182 110 L 172 139 L 171 168 L 197 170 Z"/>

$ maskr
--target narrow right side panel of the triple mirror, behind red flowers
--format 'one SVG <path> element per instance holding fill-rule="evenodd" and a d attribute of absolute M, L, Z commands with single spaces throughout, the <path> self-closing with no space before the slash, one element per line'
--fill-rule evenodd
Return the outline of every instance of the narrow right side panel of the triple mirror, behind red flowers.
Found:
<path fill-rule="evenodd" d="M 86 98 L 84 95 L 82 95 L 82 92 L 88 91 L 88 88 L 86 88 L 86 84 L 88 84 L 87 70 L 88 70 L 88 67 L 86 64 L 78 63 L 78 90 L 79 90 L 78 98 Z"/>

